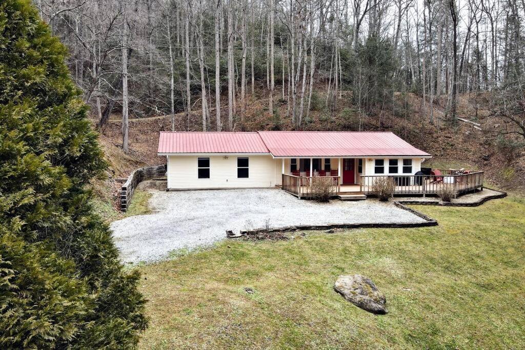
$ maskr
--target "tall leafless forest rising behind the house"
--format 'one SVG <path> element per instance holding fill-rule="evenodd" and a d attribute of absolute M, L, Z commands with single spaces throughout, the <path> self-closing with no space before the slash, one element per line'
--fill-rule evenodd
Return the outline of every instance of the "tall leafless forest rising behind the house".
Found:
<path fill-rule="evenodd" d="M 525 137 L 523 0 L 34 1 L 99 127 L 122 115 L 124 152 L 130 116 L 243 130 L 264 101 L 300 130 L 312 104 L 338 113 L 349 99 L 366 115 L 408 93 L 450 125 L 460 94 L 482 94 L 498 132 Z"/>

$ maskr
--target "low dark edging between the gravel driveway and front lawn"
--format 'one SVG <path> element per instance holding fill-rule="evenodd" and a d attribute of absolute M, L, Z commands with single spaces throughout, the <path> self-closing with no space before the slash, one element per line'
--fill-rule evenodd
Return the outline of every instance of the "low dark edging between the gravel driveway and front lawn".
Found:
<path fill-rule="evenodd" d="M 412 214 L 417 215 L 418 217 L 425 220 L 425 222 L 407 222 L 402 224 L 396 224 L 395 222 L 364 222 L 363 224 L 327 224 L 327 225 L 295 225 L 295 226 L 285 226 L 279 228 L 256 228 L 253 230 L 240 230 L 238 234 L 234 234 L 232 231 L 226 231 L 227 238 L 239 238 L 244 236 L 257 235 L 261 233 L 272 233 L 272 232 L 292 232 L 298 230 L 329 230 L 333 228 L 413 228 L 413 227 L 428 227 L 428 226 L 437 226 L 437 221 L 429 216 L 426 216 L 419 211 L 407 206 L 397 203 L 396 201 L 392 202 L 396 207 L 407 210 Z"/>

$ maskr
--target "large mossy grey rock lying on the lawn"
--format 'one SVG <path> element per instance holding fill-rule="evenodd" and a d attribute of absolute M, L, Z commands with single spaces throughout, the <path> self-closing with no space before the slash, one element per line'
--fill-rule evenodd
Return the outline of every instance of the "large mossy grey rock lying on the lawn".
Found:
<path fill-rule="evenodd" d="M 386 297 L 374 282 L 360 274 L 341 275 L 335 281 L 335 291 L 352 304 L 374 314 L 386 314 Z"/>

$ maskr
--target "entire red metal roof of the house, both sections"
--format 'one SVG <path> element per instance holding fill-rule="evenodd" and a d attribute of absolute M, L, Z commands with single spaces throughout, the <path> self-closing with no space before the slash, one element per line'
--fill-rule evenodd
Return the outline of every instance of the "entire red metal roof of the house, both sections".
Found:
<path fill-rule="evenodd" d="M 271 153 L 275 157 L 430 156 L 391 132 L 161 132 L 160 154 Z"/>

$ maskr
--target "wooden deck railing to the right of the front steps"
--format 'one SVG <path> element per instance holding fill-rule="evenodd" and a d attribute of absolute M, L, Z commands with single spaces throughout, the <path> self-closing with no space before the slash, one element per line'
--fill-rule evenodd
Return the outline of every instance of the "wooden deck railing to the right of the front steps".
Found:
<path fill-rule="evenodd" d="M 484 173 L 454 174 L 453 171 L 441 171 L 442 175 L 371 175 L 361 176 L 360 189 L 364 194 L 372 194 L 372 186 L 379 178 L 393 178 L 396 195 L 437 194 L 439 189 L 453 187 L 457 195 L 483 187 Z"/>

